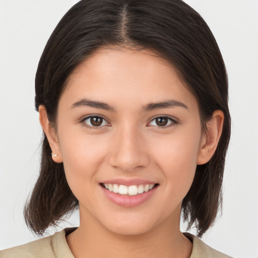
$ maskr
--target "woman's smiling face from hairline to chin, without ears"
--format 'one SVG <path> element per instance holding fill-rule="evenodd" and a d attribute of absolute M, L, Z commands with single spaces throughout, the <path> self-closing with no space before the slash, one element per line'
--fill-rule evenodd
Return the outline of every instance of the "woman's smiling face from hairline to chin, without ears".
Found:
<path fill-rule="evenodd" d="M 56 141 L 80 220 L 118 234 L 179 225 L 202 145 L 198 103 L 150 50 L 99 49 L 60 97 Z"/>

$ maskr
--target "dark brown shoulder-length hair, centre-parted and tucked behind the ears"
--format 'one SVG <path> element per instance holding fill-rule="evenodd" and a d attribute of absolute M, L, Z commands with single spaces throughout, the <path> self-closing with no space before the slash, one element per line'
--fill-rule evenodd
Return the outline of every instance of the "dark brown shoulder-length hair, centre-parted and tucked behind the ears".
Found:
<path fill-rule="evenodd" d="M 230 137 L 228 82 L 224 62 L 209 27 L 181 0 L 83 0 L 72 7 L 50 36 L 35 80 L 35 105 L 44 105 L 55 126 L 57 105 L 74 69 L 101 46 L 147 48 L 169 61 L 199 103 L 205 124 L 215 110 L 224 113 L 221 139 L 212 159 L 198 165 L 182 202 L 188 228 L 202 236 L 221 205 L 225 156 Z M 41 168 L 25 205 L 27 225 L 43 234 L 78 207 L 63 165 L 51 158 L 43 135 Z"/>

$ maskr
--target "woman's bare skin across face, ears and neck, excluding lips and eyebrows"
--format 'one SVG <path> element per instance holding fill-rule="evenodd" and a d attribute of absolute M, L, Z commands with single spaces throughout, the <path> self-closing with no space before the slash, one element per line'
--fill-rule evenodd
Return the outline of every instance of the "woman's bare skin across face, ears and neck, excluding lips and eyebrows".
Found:
<path fill-rule="evenodd" d="M 73 106 L 83 98 L 114 110 Z M 143 110 L 171 99 L 187 108 Z M 56 128 L 44 106 L 39 113 L 58 154 L 53 160 L 63 162 L 80 203 L 80 227 L 67 236 L 75 257 L 190 256 L 192 243 L 179 228 L 181 202 L 197 164 L 208 162 L 216 150 L 222 111 L 214 112 L 203 134 L 197 100 L 165 60 L 150 50 L 101 48 L 71 76 L 58 103 Z M 89 115 L 105 120 L 92 128 Z M 172 120 L 160 126 L 155 118 L 164 116 Z M 151 180 L 158 187 L 141 205 L 117 206 L 100 186 L 116 178 Z"/>

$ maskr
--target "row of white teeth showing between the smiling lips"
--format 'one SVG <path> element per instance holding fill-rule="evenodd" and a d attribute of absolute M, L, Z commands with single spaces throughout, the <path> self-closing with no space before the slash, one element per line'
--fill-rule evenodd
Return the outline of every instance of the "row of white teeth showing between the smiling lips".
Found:
<path fill-rule="evenodd" d="M 106 188 L 109 191 L 114 193 L 118 193 L 119 195 L 125 196 L 136 196 L 141 193 L 148 192 L 152 190 L 154 187 L 157 187 L 159 184 L 140 184 L 140 185 L 122 185 L 122 184 L 111 184 L 111 183 L 100 183 L 100 185 Z"/>

